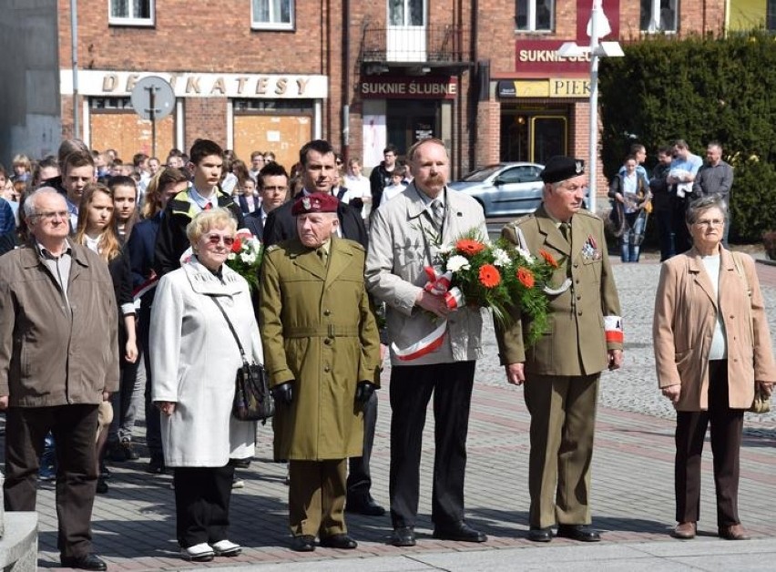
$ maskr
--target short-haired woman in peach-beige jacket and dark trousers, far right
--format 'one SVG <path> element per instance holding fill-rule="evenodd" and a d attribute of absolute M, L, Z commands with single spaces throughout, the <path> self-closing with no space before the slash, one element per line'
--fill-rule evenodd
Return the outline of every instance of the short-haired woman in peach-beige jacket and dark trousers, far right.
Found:
<path fill-rule="evenodd" d="M 776 381 L 771 334 L 749 256 L 720 242 L 725 203 L 717 196 L 690 204 L 693 247 L 660 272 L 653 334 L 658 383 L 677 410 L 675 486 L 678 525 L 672 536 L 693 538 L 700 505 L 700 455 L 711 425 L 718 534 L 749 538 L 738 514 L 743 414 L 759 383 Z"/>

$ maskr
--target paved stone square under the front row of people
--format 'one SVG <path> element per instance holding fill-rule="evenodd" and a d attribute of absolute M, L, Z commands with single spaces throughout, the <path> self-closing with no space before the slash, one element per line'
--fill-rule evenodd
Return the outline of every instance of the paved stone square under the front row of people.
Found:
<path fill-rule="evenodd" d="M 425 570 L 425 569 L 772 569 L 776 557 L 776 414 L 747 414 L 741 452 L 740 515 L 755 540 L 748 547 L 716 537 L 710 447 L 703 461 L 699 539 L 682 543 L 669 538 L 674 525 L 673 413 L 657 389 L 651 353 L 651 316 L 659 264 L 614 263 L 626 328 L 626 362 L 604 373 L 593 462 L 594 526 L 604 542 L 580 546 L 555 539 L 536 546 L 526 539 L 529 417 L 522 390 L 505 383 L 498 365 L 492 329 L 485 332 L 485 358 L 478 363 L 468 439 L 466 517 L 485 531 L 483 545 L 431 537 L 430 491 L 434 462 L 433 419 L 424 435 L 418 546 L 387 544 L 389 516 L 347 516 L 353 551 L 318 548 L 300 554 L 288 549 L 287 487 L 283 465 L 271 462 L 271 429 L 260 426 L 255 460 L 238 474 L 245 488 L 231 501 L 230 539 L 245 546 L 235 558 L 217 558 L 196 567 L 260 566 L 261 570 Z M 776 268 L 758 264 L 771 332 L 776 330 Z M 387 380 L 387 374 L 384 375 Z M 373 495 L 388 506 L 389 421 L 387 383 L 373 453 Z M 138 427 L 142 443 L 143 428 Z M 110 492 L 98 495 L 93 528 L 97 553 L 110 569 L 158 570 L 191 567 L 178 557 L 174 540 L 174 496 L 168 475 L 147 475 L 148 461 L 111 465 Z M 40 485 L 40 567 L 58 565 L 54 486 Z M 695 543 L 695 544 L 693 544 Z M 735 549 L 731 546 L 735 545 Z M 708 567 L 699 564 L 714 557 Z M 751 555 L 771 555 L 752 560 Z M 550 556 L 552 555 L 552 556 Z M 596 555 L 596 556 L 594 556 Z M 644 558 L 647 558 L 646 560 Z M 668 559 L 667 559 L 668 558 Z M 696 558 L 693 560 L 693 558 Z M 700 560 L 698 559 L 700 558 Z M 659 559 L 660 565 L 656 565 Z M 552 565 L 549 561 L 552 561 Z M 737 564 L 736 564 L 737 563 Z M 769 564 L 771 563 L 771 564 Z"/>

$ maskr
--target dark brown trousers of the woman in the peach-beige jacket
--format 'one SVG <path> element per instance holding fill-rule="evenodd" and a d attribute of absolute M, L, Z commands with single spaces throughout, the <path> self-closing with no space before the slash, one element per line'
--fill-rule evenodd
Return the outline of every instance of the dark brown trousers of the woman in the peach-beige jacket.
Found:
<path fill-rule="evenodd" d="M 700 516 L 700 455 L 711 425 L 717 526 L 738 525 L 740 448 L 743 409 L 728 405 L 728 361 L 709 363 L 709 409 L 677 412 L 675 485 L 677 522 L 698 522 Z"/>

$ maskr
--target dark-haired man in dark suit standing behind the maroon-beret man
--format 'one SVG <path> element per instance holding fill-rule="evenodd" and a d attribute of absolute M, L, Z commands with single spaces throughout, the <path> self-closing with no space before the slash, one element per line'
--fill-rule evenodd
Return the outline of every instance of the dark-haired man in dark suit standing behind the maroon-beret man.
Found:
<path fill-rule="evenodd" d="M 315 139 L 306 143 L 299 151 L 301 163 L 301 195 L 314 192 L 332 195 L 337 184 L 339 171 L 336 165 L 334 148 L 328 141 Z M 264 222 L 264 246 L 269 247 L 281 240 L 297 236 L 296 220 L 293 216 L 293 201 L 271 211 Z M 337 201 L 337 220 L 335 227 L 338 237 L 355 240 L 366 249 L 367 234 L 361 218 L 361 211 Z M 373 393 L 364 408 L 363 455 L 351 457 L 348 473 L 348 501 L 346 510 L 367 516 L 383 516 L 385 509 L 378 505 L 371 493 L 372 474 L 369 463 L 374 443 L 374 428 L 377 424 L 377 394 Z"/>

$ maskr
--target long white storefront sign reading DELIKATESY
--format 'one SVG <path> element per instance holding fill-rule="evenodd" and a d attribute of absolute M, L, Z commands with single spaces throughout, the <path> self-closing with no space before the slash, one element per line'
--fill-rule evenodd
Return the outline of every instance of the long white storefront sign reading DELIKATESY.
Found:
<path fill-rule="evenodd" d="M 128 97 L 138 81 L 147 76 L 159 76 L 168 80 L 176 97 L 323 99 L 328 96 L 326 76 L 129 72 L 96 69 L 78 71 L 78 93 L 82 96 Z M 72 96 L 72 70 L 60 69 L 59 77 L 61 94 Z"/>

